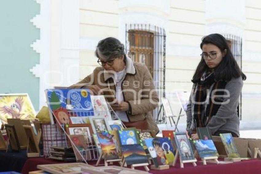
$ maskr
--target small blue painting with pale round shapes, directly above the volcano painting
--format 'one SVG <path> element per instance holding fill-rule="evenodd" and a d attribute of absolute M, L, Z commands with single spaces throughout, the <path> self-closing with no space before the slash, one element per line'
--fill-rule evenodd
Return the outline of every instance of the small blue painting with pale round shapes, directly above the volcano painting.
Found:
<path fill-rule="evenodd" d="M 139 144 L 135 130 L 119 131 L 119 139 L 121 145 Z"/>

